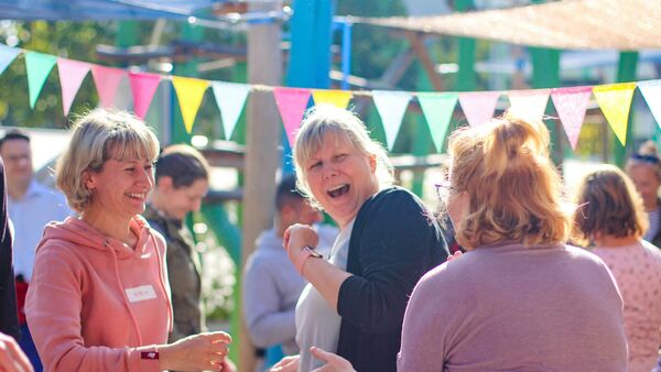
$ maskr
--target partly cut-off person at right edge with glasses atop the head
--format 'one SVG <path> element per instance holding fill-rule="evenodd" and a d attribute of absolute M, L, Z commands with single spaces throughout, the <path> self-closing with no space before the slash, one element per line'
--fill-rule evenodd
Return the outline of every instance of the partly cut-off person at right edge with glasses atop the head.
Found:
<path fill-rule="evenodd" d="M 652 141 L 644 142 L 627 161 L 625 171 L 642 197 L 642 205 L 648 215 L 649 228 L 642 239 L 661 247 L 661 158 L 657 145 Z"/>

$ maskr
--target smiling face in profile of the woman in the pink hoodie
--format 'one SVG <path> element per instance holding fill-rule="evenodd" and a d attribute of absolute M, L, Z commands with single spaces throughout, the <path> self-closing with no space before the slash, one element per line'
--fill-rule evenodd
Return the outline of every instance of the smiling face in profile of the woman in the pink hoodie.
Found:
<path fill-rule="evenodd" d="M 151 160 L 106 161 L 100 172 L 86 171 L 86 186 L 93 190 L 85 212 L 102 212 L 118 220 L 130 220 L 144 211 L 149 192 L 154 186 Z"/>

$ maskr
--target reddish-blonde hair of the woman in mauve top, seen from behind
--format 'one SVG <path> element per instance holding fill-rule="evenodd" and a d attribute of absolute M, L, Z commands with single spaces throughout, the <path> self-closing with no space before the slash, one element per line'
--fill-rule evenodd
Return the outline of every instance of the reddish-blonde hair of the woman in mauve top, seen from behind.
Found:
<path fill-rule="evenodd" d="M 566 240 L 570 216 L 562 205 L 561 178 L 549 158 L 549 143 L 541 120 L 509 112 L 452 134 L 453 193 L 467 193 L 469 200 L 468 214 L 455 227 L 460 245 Z"/>

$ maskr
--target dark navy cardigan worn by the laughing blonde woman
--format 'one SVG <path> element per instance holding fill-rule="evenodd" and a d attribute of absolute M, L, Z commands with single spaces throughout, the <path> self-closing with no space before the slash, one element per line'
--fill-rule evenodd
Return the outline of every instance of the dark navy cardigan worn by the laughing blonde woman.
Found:
<path fill-rule="evenodd" d="M 360 207 L 340 287 L 337 353 L 360 372 L 397 371 L 404 310 L 415 283 L 445 262 L 447 244 L 432 212 L 392 187 Z"/>

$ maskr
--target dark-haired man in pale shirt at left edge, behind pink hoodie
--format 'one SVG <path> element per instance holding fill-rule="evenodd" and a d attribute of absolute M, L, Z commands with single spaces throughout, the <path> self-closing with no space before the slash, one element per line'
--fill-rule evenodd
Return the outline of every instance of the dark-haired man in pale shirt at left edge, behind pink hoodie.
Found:
<path fill-rule="evenodd" d="M 0 139 L 0 156 L 7 171 L 9 219 L 13 223 L 13 265 L 17 283 L 17 300 L 21 348 L 39 372 L 39 359 L 29 325 L 25 321 L 25 295 L 34 266 L 34 250 L 46 223 L 63 221 L 69 215 L 64 196 L 40 184 L 34 177 L 30 136 L 20 130 L 10 130 Z"/>

